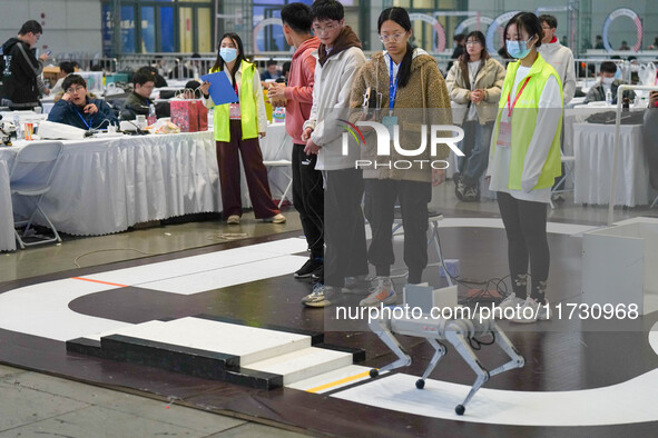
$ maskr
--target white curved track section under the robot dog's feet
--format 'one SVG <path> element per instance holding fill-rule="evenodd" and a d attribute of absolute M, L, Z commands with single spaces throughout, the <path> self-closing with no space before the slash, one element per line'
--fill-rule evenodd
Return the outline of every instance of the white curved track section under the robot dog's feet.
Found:
<path fill-rule="evenodd" d="M 334 394 L 343 400 L 432 418 L 513 426 L 605 426 L 658 421 L 658 369 L 625 382 L 576 391 L 508 391 L 482 388 L 458 416 L 470 387 L 394 375 Z"/>

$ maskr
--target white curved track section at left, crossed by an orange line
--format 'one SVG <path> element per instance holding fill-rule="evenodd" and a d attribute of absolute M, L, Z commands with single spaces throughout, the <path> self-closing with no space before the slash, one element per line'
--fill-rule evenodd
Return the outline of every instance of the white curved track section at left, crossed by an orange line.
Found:
<path fill-rule="evenodd" d="M 244 248 L 235 248 L 177 259 L 179 265 L 186 265 L 187 269 L 179 269 L 179 267 L 176 269 L 176 260 L 168 260 L 82 278 L 143 288 L 149 288 L 150 283 L 156 285 L 155 281 L 161 279 L 163 281 L 157 283 L 163 287 L 161 289 L 155 287 L 150 289 L 190 295 L 190 290 L 203 292 L 226 286 L 226 280 L 230 280 L 230 285 L 238 285 L 261 279 L 267 272 L 276 272 L 268 275 L 267 278 L 292 273 L 306 259 L 289 256 L 306 250 L 304 239 L 283 239 L 249 248 L 253 248 L 251 256 L 245 256 Z M 273 269 L 273 266 L 276 269 Z M 227 269 L 239 271 L 240 275 L 227 279 Z M 246 272 L 253 272 L 253 275 L 249 276 Z M 176 287 L 168 287 L 171 285 Z M 63 342 L 131 326 L 69 309 L 69 303 L 77 298 L 119 287 L 68 278 L 9 290 L 0 293 L 0 328 Z"/>

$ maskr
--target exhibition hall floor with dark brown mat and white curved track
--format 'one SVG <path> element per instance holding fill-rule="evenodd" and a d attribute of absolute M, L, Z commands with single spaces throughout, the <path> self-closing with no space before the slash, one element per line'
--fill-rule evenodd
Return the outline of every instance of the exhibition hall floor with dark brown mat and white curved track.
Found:
<path fill-rule="evenodd" d="M 444 257 L 460 260 L 461 278 L 505 277 L 507 240 L 495 202 L 455 202 L 452 187 L 434 193 L 445 217 L 440 223 Z M 656 211 L 620 209 L 616 220 Z M 423 390 L 414 382 L 433 350 L 418 338 L 402 340 L 413 358 L 410 367 L 370 379 L 364 370 L 395 357 L 365 321 L 327 331 L 331 309 L 302 307 L 311 285 L 292 273 L 306 258 L 305 241 L 294 210 L 285 213 L 286 225 L 256 223 L 246 215 L 240 227 L 217 220 L 167 225 L 0 255 L 0 361 L 8 366 L 0 368 L 0 387 L 9 394 L 3 404 L 13 409 L 2 409 L 12 414 L 0 416 L 0 437 L 99 430 L 119 436 L 655 435 L 658 311 L 605 325 L 579 318 L 521 327 L 501 321 L 526 366 L 492 377 L 458 417 L 454 406 L 474 375 L 451 346 Z M 602 226 L 606 213 L 569 201 L 551 211 L 551 302 L 579 302 L 581 235 Z M 401 239 L 395 239 L 395 268 L 403 267 Z M 435 287 L 445 281 L 435 266 L 423 279 Z M 394 283 L 402 291 L 404 279 Z M 360 298 L 347 297 L 346 306 Z M 225 330 L 217 337 L 233 338 L 243 365 L 265 337 L 282 350 L 307 341 L 335 358 L 335 367 L 310 372 L 313 367 L 304 368 L 299 359 L 296 374 L 281 372 L 283 387 L 265 390 L 66 348 L 68 340 L 98 332 L 138 336 L 136 327 L 145 327 L 139 336 L 154 341 L 185 339 L 185 330 L 199 327 L 190 342 L 213 342 L 214 334 L 204 327 L 216 320 Z M 249 338 L 246 332 L 256 328 Z M 478 355 L 488 368 L 504 360 L 495 347 L 483 346 Z M 252 370 L 265 369 L 262 362 L 253 359 Z M 102 420 L 108 412 L 114 421 Z"/>

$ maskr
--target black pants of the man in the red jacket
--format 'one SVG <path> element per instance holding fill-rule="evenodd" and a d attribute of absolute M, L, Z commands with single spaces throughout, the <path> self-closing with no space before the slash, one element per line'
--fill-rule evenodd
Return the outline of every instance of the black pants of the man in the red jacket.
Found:
<path fill-rule="evenodd" d="M 324 189 L 322 172 L 315 170 L 317 156 L 307 156 L 305 145 L 293 145 L 293 203 L 299 212 L 299 221 L 311 256 L 324 255 Z"/>

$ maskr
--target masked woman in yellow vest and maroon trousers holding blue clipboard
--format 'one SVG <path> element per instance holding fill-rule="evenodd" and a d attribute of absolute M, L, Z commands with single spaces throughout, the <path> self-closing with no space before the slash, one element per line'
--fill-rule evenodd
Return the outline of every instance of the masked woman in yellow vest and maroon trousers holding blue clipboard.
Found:
<path fill-rule="evenodd" d="M 256 66 L 246 60 L 243 42 L 237 33 L 225 33 L 219 40 L 219 52 L 210 73 L 217 71 L 226 72 L 239 98 L 236 103 L 215 106 L 208 93 L 210 83 L 204 82 L 200 87 L 204 104 L 215 108 L 215 141 L 226 223 L 239 225 L 243 213 L 239 156 L 256 219 L 283 223 L 286 218 L 272 200 L 267 169 L 263 165 L 263 152 L 258 145 L 258 138 L 265 137 L 267 128 L 261 77 Z"/>

